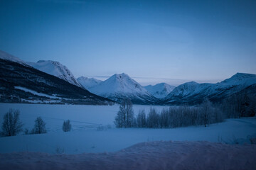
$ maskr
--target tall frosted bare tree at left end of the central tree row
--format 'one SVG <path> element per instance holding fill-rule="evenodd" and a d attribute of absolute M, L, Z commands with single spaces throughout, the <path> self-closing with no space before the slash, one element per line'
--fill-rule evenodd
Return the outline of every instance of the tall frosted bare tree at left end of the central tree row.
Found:
<path fill-rule="evenodd" d="M 134 111 L 132 101 L 124 99 L 119 106 L 119 111 L 114 119 L 117 128 L 132 128 L 134 125 Z"/>

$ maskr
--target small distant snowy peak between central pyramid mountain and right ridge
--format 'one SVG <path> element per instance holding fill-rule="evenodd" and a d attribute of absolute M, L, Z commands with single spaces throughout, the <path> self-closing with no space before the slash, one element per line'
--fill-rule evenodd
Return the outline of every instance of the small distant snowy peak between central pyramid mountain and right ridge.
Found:
<path fill-rule="evenodd" d="M 175 86 L 171 86 L 166 83 L 156 84 L 154 86 L 144 86 L 149 93 L 156 98 L 165 98 L 171 91 L 174 90 Z"/>

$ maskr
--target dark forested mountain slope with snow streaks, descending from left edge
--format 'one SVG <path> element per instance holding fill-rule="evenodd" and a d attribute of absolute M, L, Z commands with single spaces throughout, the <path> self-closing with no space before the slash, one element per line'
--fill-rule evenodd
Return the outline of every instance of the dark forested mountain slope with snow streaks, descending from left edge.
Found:
<path fill-rule="evenodd" d="M 41 72 L 6 52 L 0 52 L 0 102 L 112 104 L 108 98 Z"/>

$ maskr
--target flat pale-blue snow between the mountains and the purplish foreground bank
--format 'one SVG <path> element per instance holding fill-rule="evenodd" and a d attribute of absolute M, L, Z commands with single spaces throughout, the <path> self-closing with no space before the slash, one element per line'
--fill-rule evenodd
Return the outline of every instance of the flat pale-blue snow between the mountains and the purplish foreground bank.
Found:
<path fill-rule="evenodd" d="M 134 106 L 134 113 L 151 106 Z M 164 106 L 153 106 L 161 111 Z M 174 129 L 114 128 L 114 116 L 119 106 L 74 106 L 74 105 L 34 105 L 0 104 L 0 118 L 9 108 L 21 111 L 23 128 L 31 130 L 34 120 L 41 116 L 46 122 L 48 133 L 41 135 L 20 135 L 0 137 L 0 152 L 47 152 L 78 154 L 82 152 L 115 152 L 138 142 L 156 140 L 248 142 L 256 133 L 256 118 L 229 119 L 224 123 L 209 127 L 188 127 Z M 63 120 L 71 120 L 71 132 L 63 132 Z M 1 123 L 0 122 L 0 123 Z M 97 130 L 99 125 L 105 130 Z M 109 125 L 109 126 L 107 126 Z M 108 128 L 107 128 L 108 127 Z M 112 128 L 110 128 L 112 127 Z"/>

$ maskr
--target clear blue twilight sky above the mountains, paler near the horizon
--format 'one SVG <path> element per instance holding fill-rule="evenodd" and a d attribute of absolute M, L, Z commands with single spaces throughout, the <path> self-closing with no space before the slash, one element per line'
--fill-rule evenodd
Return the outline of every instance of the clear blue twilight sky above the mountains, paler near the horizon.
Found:
<path fill-rule="evenodd" d="M 0 0 L 0 50 L 75 77 L 215 82 L 256 74 L 256 1 Z"/>

